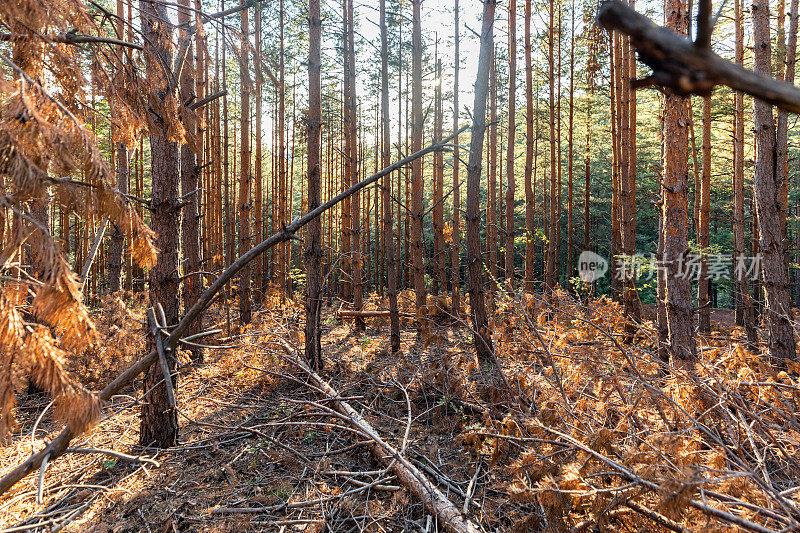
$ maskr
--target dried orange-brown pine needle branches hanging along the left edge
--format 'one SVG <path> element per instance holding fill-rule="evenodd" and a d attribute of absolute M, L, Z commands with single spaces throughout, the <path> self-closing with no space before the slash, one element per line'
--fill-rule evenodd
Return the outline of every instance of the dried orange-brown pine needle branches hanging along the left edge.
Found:
<path fill-rule="evenodd" d="M 132 143 L 147 124 L 146 91 L 129 51 L 106 46 L 87 55 L 53 41 L 70 32 L 118 37 L 100 8 L 81 0 L 10 0 L 0 2 L 0 27 L 11 42 L 10 57 L 0 53 L 0 270 L 6 280 L 0 293 L 0 438 L 15 428 L 14 389 L 23 378 L 46 391 L 56 412 L 81 432 L 100 406 L 65 363 L 70 353 L 94 345 L 98 334 L 46 213 L 54 202 L 62 213 L 107 219 L 124 232 L 137 264 L 155 263 L 154 236 L 116 191 L 116 177 L 85 123 L 92 112 L 85 88 L 91 86 L 119 120 L 115 139 Z M 171 120 L 177 112 L 165 115 Z"/>

